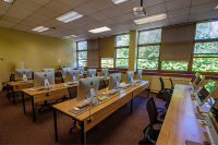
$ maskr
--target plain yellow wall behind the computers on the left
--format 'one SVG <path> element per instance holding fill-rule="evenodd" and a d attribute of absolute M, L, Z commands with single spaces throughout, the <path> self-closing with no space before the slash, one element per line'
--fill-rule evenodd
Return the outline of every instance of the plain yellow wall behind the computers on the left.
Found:
<path fill-rule="evenodd" d="M 16 61 L 24 61 L 25 69 L 34 72 L 60 64 L 76 68 L 76 43 L 0 27 L 0 78 L 5 82 Z"/>

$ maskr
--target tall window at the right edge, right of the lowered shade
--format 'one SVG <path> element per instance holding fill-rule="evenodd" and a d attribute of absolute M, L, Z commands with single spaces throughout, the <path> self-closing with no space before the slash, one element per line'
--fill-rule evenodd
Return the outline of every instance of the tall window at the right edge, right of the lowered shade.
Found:
<path fill-rule="evenodd" d="M 196 25 L 192 71 L 218 72 L 218 22 Z"/>

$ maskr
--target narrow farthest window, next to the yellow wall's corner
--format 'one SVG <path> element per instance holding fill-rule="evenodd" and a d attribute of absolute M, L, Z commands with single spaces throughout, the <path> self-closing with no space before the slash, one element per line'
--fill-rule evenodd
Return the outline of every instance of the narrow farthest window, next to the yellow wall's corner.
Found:
<path fill-rule="evenodd" d="M 77 43 L 77 67 L 87 67 L 87 41 Z"/>

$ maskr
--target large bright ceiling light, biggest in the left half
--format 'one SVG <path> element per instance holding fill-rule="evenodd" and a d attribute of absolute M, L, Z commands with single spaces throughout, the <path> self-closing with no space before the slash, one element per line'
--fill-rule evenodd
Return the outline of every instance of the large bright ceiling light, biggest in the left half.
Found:
<path fill-rule="evenodd" d="M 83 16 L 84 16 L 83 14 L 80 14 L 76 11 L 70 11 L 70 12 L 63 14 L 63 15 L 60 15 L 60 16 L 56 17 L 56 20 L 61 21 L 63 23 L 69 23 L 71 21 L 81 19 Z"/>

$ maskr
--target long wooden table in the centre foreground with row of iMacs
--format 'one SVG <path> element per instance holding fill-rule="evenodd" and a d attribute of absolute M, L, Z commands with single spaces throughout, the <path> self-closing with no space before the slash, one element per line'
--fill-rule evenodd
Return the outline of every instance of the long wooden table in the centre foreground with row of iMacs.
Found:
<path fill-rule="evenodd" d="M 86 143 L 86 132 L 90 130 L 93 126 L 98 124 L 100 121 L 102 121 L 105 118 L 110 116 L 112 112 L 118 110 L 120 107 L 125 105 L 128 101 L 131 100 L 131 110 L 130 113 L 132 113 L 132 106 L 133 106 L 133 97 L 135 97 L 141 92 L 145 90 L 149 87 L 149 82 L 144 81 L 142 84 L 138 83 L 138 85 L 134 87 L 128 87 L 126 89 L 122 90 L 120 94 L 113 94 L 110 95 L 107 99 L 102 101 L 98 101 L 97 105 L 88 107 L 86 110 L 81 111 L 80 113 L 72 113 L 69 111 L 69 109 L 75 107 L 76 105 L 81 102 L 76 102 L 76 99 L 71 99 L 58 105 L 53 105 L 53 121 L 55 121 L 55 135 L 56 141 L 58 141 L 58 128 L 57 128 L 57 116 L 56 110 L 64 113 L 65 116 L 69 116 L 70 118 L 73 118 L 76 120 L 76 126 L 81 129 L 81 143 Z M 102 92 L 107 93 L 107 88 L 100 89 L 98 92 L 98 95 Z M 98 96 L 97 95 L 97 96 Z M 94 118 L 93 121 L 89 121 L 89 118 Z M 80 125 L 78 125 L 80 124 Z"/>

